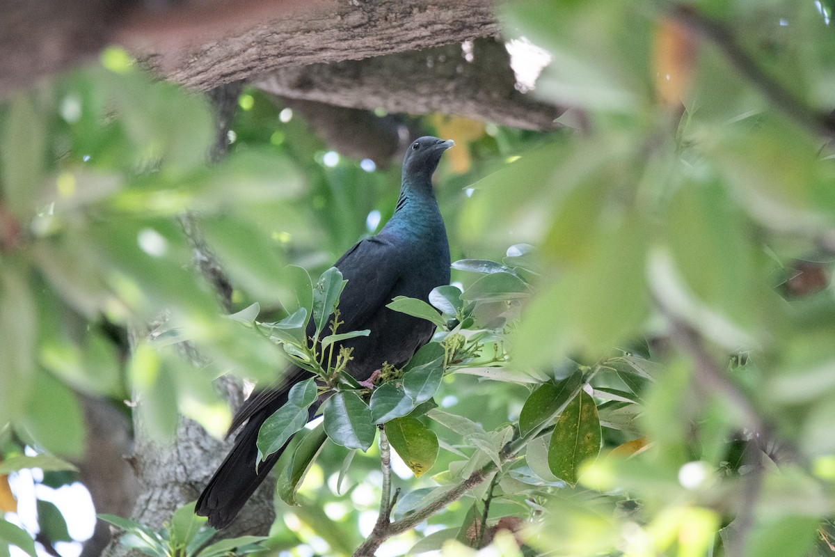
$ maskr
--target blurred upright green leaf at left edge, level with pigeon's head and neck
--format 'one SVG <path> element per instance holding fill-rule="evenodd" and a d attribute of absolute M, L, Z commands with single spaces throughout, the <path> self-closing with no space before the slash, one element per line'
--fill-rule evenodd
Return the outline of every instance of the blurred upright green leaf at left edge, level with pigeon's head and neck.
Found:
<path fill-rule="evenodd" d="M 43 190 L 47 151 L 47 128 L 43 107 L 36 106 L 38 95 L 14 95 L 8 105 L 0 160 L 3 170 L 3 200 L 23 222 L 34 214 Z"/>

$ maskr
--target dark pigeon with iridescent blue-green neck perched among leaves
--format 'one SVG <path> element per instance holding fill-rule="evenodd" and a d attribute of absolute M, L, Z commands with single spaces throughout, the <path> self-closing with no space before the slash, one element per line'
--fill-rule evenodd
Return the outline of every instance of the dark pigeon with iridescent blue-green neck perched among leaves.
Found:
<path fill-rule="evenodd" d="M 427 300 L 435 286 L 449 283 L 449 244 L 432 175 L 438 160 L 453 141 L 422 137 L 409 145 L 403 160 L 400 198 L 394 215 L 380 233 L 358 242 L 337 261 L 347 279 L 340 296 L 341 331 L 370 329 L 368 337 L 344 342 L 352 347 L 353 360 L 347 371 L 365 381 L 389 362 L 401 367 L 432 337 L 432 323 L 386 305 L 395 296 Z M 308 335 L 312 336 L 311 323 Z M 338 348 L 338 347 L 337 347 Z M 230 433 L 245 423 L 235 446 L 197 500 L 196 513 L 209 517 L 209 524 L 224 528 L 270 471 L 286 445 L 258 466 L 256 439 L 266 418 L 286 403 L 287 392 L 296 382 L 311 377 L 294 367 L 276 387 L 253 393 L 235 416 Z M 311 407 L 311 418 L 318 404 Z"/>

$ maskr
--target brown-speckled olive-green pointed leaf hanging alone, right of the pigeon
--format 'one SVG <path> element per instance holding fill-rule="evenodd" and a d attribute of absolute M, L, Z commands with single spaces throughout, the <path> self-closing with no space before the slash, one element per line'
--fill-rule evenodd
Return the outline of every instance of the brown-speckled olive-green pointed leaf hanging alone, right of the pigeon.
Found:
<path fill-rule="evenodd" d="M 580 391 L 566 406 L 554 426 L 548 448 L 551 472 L 572 486 L 577 484 L 580 464 L 600 453 L 600 420 L 595 401 Z"/>

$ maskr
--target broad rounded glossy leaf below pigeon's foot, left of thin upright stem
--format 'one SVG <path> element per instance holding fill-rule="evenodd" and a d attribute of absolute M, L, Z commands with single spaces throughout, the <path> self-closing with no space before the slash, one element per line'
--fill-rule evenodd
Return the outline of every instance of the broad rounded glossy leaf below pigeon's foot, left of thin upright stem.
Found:
<path fill-rule="evenodd" d="M 325 401 L 322 413 L 327 436 L 337 445 L 366 451 L 374 443 L 371 409 L 356 393 L 337 392 Z"/>

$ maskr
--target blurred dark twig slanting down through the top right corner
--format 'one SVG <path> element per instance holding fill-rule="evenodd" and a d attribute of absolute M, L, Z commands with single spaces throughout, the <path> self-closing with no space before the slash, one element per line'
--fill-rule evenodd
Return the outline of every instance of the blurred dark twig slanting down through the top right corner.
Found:
<path fill-rule="evenodd" d="M 672 9 L 671 17 L 692 33 L 716 44 L 736 70 L 787 116 L 817 134 L 835 136 L 835 114 L 813 109 L 772 78 L 741 48 L 726 25 L 681 4 Z"/>

